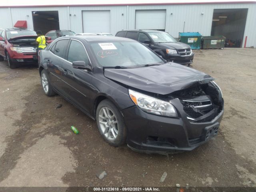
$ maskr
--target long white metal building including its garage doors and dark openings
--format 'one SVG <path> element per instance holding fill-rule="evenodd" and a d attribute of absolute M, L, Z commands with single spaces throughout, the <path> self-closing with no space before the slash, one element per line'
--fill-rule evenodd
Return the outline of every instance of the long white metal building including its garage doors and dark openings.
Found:
<path fill-rule="evenodd" d="M 42 31 L 69 29 L 76 33 L 116 34 L 122 29 L 155 29 L 169 32 L 174 37 L 178 37 L 179 32 L 200 32 L 203 36 L 224 35 L 233 40 L 240 39 L 240 47 L 244 47 L 247 36 L 246 47 L 256 47 L 255 1 L 107 2 L 73 0 L 72 5 L 50 0 L 44 4 L 0 2 L 0 28 L 12 28 L 18 20 L 26 20 L 29 29 Z M 39 17 L 40 25 L 36 22 Z"/>

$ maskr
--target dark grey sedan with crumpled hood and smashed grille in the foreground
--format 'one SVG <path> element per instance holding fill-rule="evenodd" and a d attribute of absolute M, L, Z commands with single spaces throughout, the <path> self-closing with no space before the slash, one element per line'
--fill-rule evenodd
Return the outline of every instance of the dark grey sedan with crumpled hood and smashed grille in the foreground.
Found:
<path fill-rule="evenodd" d="M 165 154 L 192 150 L 218 133 L 224 100 L 214 79 L 166 62 L 140 42 L 62 37 L 38 59 L 44 93 L 60 94 L 96 120 L 110 145 Z"/>

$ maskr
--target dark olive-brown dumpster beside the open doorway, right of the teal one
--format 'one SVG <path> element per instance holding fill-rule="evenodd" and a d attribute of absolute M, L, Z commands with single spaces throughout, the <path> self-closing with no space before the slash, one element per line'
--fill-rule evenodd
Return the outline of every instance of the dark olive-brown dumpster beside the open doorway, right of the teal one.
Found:
<path fill-rule="evenodd" d="M 224 36 L 203 36 L 202 49 L 223 49 L 225 40 Z"/>

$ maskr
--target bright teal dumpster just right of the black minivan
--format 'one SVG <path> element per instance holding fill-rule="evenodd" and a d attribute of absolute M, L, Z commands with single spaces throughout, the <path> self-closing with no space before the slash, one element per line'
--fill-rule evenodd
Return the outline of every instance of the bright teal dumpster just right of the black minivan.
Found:
<path fill-rule="evenodd" d="M 192 49 L 200 49 L 202 35 L 199 32 L 179 33 L 179 42 L 190 45 Z"/>

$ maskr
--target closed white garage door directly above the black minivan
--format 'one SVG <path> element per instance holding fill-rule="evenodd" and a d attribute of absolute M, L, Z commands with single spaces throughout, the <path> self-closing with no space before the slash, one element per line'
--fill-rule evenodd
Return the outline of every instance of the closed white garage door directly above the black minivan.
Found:
<path fill-rule="evenodd" d="M 135 28 L 165 30 L 166 10 L 136 10 Z"/>

